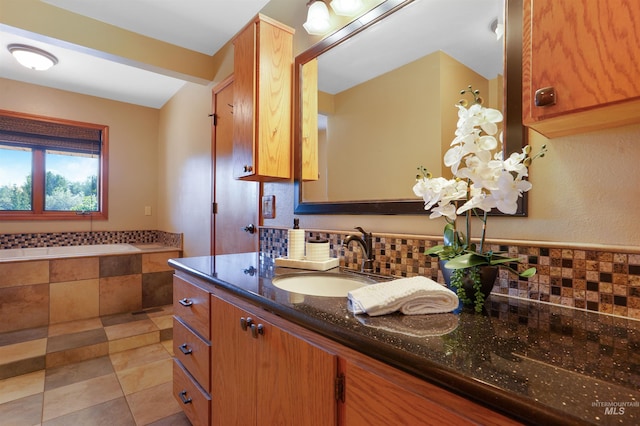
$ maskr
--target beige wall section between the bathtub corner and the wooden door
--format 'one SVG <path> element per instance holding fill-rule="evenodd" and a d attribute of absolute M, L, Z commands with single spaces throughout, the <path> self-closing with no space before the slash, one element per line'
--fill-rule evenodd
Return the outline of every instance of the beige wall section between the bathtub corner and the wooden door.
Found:
<path fill-rule="evenodd" d="M 160 111 L 158 227 L 184 234 L 184 256 L 210 253 L 211 87 L 187 83 Z"/>

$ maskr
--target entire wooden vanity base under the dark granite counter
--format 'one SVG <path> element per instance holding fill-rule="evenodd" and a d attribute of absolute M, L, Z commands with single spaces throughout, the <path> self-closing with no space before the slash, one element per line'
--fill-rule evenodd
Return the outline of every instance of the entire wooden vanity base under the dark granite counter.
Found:
<path fill-rule="evenodd" d="M 174 394 L 193 425 L 519 424 L 185 272 L 174 295 Z M 185 339 L 196 350 L 189 333 L 210 350 L 204 365 L 180 355 Z"/>

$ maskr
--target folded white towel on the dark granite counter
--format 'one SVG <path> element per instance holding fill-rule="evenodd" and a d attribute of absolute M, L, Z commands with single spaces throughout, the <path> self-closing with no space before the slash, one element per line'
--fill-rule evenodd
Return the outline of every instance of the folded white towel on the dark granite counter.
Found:
<path fill-rule="evenodd" d="M 451 312 L 458 307 L 458 296 L 442 284 L 423 276 L 371 284 L 348 294 L 349 309 L 371 316 L 400 311 L 405 315 Z"/>

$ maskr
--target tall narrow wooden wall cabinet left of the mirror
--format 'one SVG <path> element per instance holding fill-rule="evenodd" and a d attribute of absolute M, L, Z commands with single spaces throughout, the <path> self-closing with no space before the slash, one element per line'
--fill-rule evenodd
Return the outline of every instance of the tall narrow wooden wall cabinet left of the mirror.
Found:
<path fill-rule="evenodd" d="M 235 178 L 291 177 L 293 32 L 258 15 L 233 41 Z"/>

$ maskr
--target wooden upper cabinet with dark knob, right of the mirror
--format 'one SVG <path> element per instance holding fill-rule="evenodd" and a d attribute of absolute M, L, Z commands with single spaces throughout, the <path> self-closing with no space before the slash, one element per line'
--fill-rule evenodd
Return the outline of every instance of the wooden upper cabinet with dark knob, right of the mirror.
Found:
<path fill-rule="evenodd" d="M 637 0 L 525 0 L 524 124 L 558 137 L 640 122 L 638 22 Z"/>

